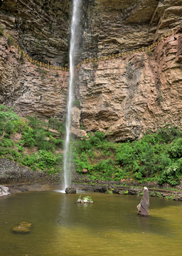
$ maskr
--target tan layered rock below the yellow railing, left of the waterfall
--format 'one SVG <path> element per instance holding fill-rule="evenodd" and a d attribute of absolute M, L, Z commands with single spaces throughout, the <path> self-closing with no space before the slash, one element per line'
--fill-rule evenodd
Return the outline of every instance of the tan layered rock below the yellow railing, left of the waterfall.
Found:
<path fill-rule="evenodd" d="M 0 37 L 0 74 L 1 104 L 21 115 L 64 117 L 69 73 L 31 65 Z"/>

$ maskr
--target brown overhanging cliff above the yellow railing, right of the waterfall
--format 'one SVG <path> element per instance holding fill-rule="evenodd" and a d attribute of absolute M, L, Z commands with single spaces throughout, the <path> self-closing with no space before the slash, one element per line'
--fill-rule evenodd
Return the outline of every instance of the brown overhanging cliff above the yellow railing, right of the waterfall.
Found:
<path fill-rule="evenodd" d="M 148 46 L 180 25 L 182 1 L 95 0 L 85 21 L 83 55 L 101 56 Z"/>

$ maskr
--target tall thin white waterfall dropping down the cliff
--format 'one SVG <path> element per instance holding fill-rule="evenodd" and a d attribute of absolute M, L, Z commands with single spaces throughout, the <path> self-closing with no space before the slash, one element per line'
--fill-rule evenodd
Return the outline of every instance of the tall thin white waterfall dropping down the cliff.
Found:
<path fill-rule="evenodd" d="M 75 69 L 75 53 L 77 52 L 77 35 L 80 24 L 80 4 L 82 0 L 73 0 L 73 15 L 71 21 L 71 37 L 70 37 L 70 80 L 68 87 L 68 103 L 66 117 L 66 135 L 63 154 L 63 170 L 64 170 L 64 191 L 70 185 L 70 127 L 71 127 L 71 110 L 73 102 L 73 85 L 74 85 L 74 69 Z"/>

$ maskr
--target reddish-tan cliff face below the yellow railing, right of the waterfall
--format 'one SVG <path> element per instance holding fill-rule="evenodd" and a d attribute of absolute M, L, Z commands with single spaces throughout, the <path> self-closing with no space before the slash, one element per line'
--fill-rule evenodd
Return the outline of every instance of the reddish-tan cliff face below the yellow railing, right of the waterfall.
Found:
<path fill-rule="evenodd" d="M 87 130 L 119 142 L 168 123 L 181 127 L 181 32 L 161 41 L 154 54 L 82 66 L 77 94 Z"/>

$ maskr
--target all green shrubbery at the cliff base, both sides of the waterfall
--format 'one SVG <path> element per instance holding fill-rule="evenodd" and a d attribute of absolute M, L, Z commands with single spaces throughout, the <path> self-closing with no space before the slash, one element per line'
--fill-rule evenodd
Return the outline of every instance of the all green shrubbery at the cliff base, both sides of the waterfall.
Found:
<path fill-rule="evenodd" d="M 37 117 L 21 119 L 0 106 L 0 157 L 49 174 L 63 169 L 64 125 L 58 119 L 43 122 Z M 171 186 L 182 176 L 182 132 L 166 125 L 148 132 L 139 141 L 113 143 L 102 132 L 71 143 L 75 170 L 102 180 L 158 181 Z"/>

